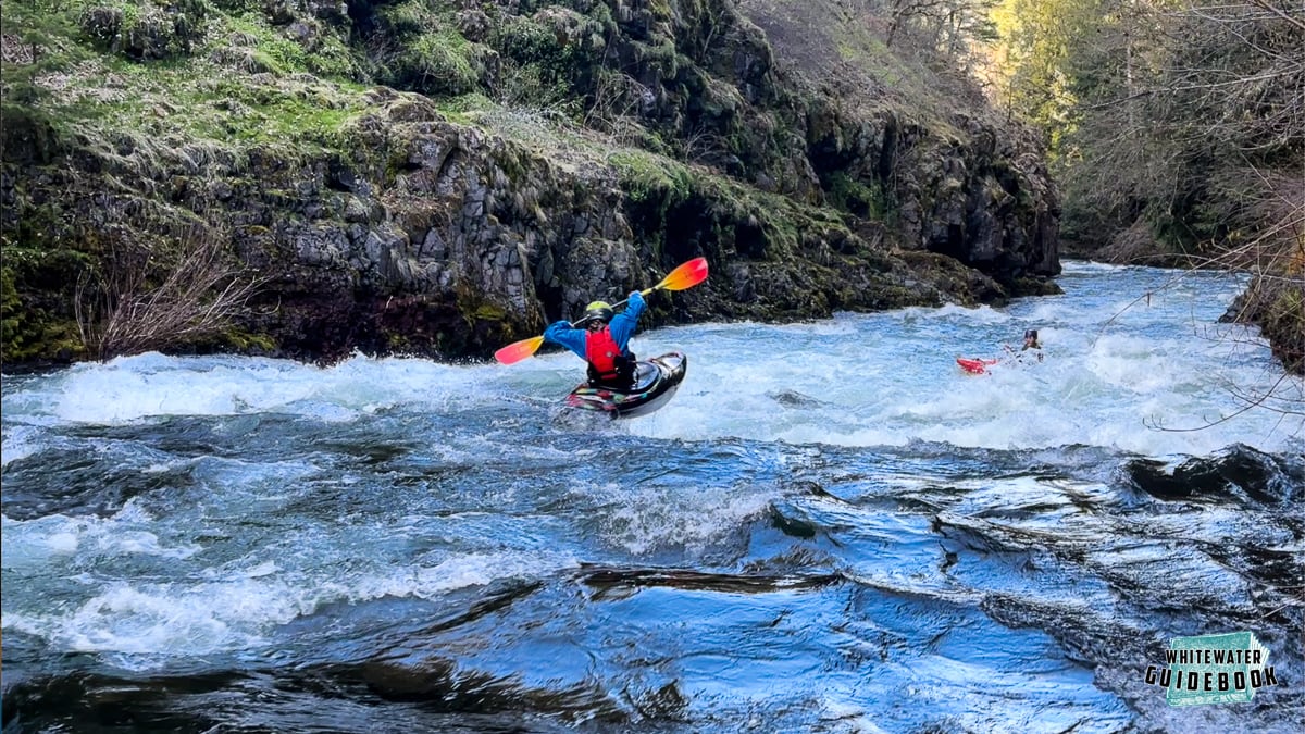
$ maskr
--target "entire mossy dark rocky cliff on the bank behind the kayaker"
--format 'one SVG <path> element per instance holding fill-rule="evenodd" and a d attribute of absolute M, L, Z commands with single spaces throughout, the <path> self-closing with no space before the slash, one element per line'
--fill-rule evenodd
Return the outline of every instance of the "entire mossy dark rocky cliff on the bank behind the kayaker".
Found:
<path fill-rule="evenodd" d="M 650 323 L 1054 290 L 1039 150 L 899 60 L 784 63 L 796 3 L 40 1 L 5 8 L 10 363 L 197 261 L 201 306 L 253 295 L 162 347 L 312 359 L 483 357 L 698 255 Z"/>

